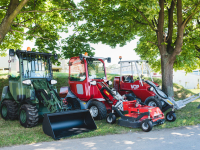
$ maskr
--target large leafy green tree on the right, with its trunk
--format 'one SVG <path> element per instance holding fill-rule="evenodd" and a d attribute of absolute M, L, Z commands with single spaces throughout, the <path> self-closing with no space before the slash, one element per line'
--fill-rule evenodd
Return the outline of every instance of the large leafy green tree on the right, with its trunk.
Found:
<path fill-rule="evenodd" d="M 173 96 L 173 67 L 199 67 L 199 0 L 84 0 L 77 30 L 92 42 L 115 47 L 140 37 L 135 51 L 162 72 L 162 89 Z"/>

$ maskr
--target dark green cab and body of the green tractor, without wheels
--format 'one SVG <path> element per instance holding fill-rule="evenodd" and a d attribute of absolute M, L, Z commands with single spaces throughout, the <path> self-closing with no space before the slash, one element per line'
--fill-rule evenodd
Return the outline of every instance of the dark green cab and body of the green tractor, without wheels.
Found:
<path fill-rule="evenodd" d="M 12 96 L 7 98 L 17 102 L 38 103 L 35 98 L 37 87 L 45 89 L 49 85 L 56 90 L 53 87 L 56 81 L 52 80 L 52 54 L 10 49 L 9 57 L 9 89 Z"/>

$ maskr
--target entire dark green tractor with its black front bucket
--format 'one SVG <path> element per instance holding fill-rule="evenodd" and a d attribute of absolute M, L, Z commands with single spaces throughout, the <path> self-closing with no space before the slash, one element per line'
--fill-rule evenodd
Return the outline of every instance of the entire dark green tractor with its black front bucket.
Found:
<path fill-rule="evenodd" d="M 43 131 L 54 139 L 96 129 L 88 110 L 67 111 L 53 80 L 51 59 L 57 55 L 24 50 L 9 50 L 9 86 L 0 100 L 4 120 L 19 118 L 25 128 L 43 119 Z M 75 129 L 73 129 L 75 128 Z"/>

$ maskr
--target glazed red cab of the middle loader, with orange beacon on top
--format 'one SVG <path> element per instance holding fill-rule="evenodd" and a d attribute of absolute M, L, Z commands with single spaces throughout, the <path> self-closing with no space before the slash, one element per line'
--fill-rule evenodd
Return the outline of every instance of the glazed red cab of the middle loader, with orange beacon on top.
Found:
<path fill-rule="evenodd" d="M 70 90 L 82 101 L 102 98 L 95 85 L 97 82 L 107 82 L 104 60 L 100 58 L 80 55 L 69 60 Z"/>

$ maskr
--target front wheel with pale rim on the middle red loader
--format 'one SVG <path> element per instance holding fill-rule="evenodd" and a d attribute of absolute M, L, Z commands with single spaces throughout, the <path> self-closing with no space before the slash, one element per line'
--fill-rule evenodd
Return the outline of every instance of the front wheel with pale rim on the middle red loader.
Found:
<path fill-rule="evenodd" d="M 103 120 L 106 118 L 106 106 L 99 101 L 92 101 L 88 107 L 90 114 L 95 120 Z"/>

